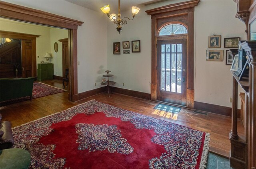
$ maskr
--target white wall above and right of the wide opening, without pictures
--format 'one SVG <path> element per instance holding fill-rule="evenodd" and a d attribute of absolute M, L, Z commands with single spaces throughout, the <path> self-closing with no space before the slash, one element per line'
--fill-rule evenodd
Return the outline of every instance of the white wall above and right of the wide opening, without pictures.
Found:
<path fill-rule="evenodd" d="M 78 26 L 78 93 L 101 87 L 101 77 L 107 70 L 105 16 L 63 0 L 4 1 L 84 22 Z"/>

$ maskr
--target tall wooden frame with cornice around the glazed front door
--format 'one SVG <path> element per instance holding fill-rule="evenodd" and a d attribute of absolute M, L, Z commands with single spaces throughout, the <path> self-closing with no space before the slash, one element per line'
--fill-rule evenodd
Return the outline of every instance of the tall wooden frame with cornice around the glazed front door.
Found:
<path fill-rule="evenodd" d="M 151 15 L 151 100 L 157 100 L 156 43 L 159 38 L 168 38 L 167 36 L 158 37 L 158 31 L 167 24 L 182 22 L 188 29 L 186 106 L 188 108 L 194 108 L 194 7 L 198 6 L 199 2 L 200 0 L 191 0 L 145 11 L 148 15 Z M 178 20 L 173 20 L 172 18 L 178 18 Z"/>

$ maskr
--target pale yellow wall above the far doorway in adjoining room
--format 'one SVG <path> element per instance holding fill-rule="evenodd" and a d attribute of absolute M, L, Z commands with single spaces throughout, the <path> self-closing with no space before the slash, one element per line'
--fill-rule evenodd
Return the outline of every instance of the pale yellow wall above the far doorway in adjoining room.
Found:
<path fill-rule="evenodd" d="M 18 33 L 27 33 L 32 35 L 40 35 L 36 38 L 36 63 L 40 63 L 41 60 L 46 61 L 44 55 L 46 52 L 51 51 L 50 47 L 50 28 L 37 26 L 33 24 L 22 24 L 21 22 L 8 22 L 1 19 L 0 30 L 12 31 Z"/>

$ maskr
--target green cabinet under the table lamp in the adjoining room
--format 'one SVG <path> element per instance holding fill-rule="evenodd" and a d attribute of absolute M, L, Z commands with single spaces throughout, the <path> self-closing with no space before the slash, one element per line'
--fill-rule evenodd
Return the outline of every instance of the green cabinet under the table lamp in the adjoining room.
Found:
<path fill-rule="evenodd" d="M 52 63 L 37 64 L 37 79 L 38 81 L 51 80 L 53 77 Z"/>

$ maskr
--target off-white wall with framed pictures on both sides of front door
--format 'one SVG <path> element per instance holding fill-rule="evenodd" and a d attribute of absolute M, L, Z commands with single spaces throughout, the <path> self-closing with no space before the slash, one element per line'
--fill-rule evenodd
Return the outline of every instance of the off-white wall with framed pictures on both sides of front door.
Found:
<path fill-rule="evenodd" d="M 167 1 L 149 6 L 140 6 L 140 13 L 123 27 L 120 34 L 116 26 L 108 20 L 108 69 L 112 71 L 117 87 L 150 93 L 151 83 L 151 18 L 145 10 L 181 1 Z M 117 11 L 110 11 L 117 12 Z M 246 39 L 245 26 L 236 14 L 236 3 L 232 0 L 201 0 L 194 13 L 194 89 L 195 101 L 231 107 L 232 75 L 230 65 L 225 64 L 226 49 L 224 37 Z M 122 17 L 131 12 L 121 12 Z M 107 20 L 107 18 L 106 18 Z M 222 62 L 206 61 L 208 36 L 222 35 L 224 50 Z M 112 54 L 112 43 L 140 40 L 141 53 Z M 130 44 L 131 45 L 131 44 Z M 213 48 L 211 48 L 213 49 Z M 189 63 L 188 63 L 189 64 Z M 125 86 L 122 86 L 125 83 Z"/>

